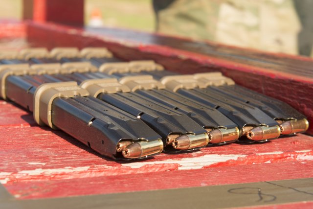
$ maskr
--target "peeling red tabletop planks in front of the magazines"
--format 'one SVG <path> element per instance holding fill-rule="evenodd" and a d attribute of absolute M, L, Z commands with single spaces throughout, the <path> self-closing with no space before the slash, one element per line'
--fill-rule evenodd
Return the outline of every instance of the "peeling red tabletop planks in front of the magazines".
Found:
<path fill-rule="evenodd" d="M 61 131 L 0 127 L 0 133 L 0 182 L 21 198 L 313 177 L 313 138 L 301 134 L 119 163 L 101 158 Z"/>

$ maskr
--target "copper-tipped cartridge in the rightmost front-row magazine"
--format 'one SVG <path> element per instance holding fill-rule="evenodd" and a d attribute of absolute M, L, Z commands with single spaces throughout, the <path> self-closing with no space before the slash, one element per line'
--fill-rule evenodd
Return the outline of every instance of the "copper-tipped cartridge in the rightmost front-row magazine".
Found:
<path fill-rule="evenodd" d="M 309 128 L 309 121 L 307 119 L 301 120 L 287 120 L 280 125 L 282 134 L 289 135 L 300 132 L 305 132 Z"/>

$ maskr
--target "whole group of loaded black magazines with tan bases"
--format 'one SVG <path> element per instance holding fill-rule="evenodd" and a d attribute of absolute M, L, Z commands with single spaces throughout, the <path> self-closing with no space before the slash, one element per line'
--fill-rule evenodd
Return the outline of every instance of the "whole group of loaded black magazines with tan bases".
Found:
<path fill-rule="evenodd" d="M 0 51 L 0 88 L 39 125 L 115 160 L 263 143 L 309 128 L 290 105 L 220 72 L 179 74 L 102 47 Z"/>

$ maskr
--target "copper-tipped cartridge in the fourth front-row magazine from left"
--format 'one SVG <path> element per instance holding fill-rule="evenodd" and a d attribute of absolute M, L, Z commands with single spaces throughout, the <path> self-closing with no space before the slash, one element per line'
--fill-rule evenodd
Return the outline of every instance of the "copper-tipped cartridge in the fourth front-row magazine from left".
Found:
<path fill-rule="evenodd" d="M 279 126 L 258 126 L 246 133 L 246 137 L 254 141 L 262 141 L 266 139 L 276 139 L 280 136 Z"/>

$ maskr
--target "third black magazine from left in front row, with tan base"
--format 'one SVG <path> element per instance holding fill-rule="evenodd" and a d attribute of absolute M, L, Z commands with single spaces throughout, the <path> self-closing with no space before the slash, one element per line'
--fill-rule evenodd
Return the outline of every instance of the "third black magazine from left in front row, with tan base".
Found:
<path fill-rule="evenodd" d="M 119 81 L 133 92 L 189 116 L 209 133 L 211 143 L 234 142 L 240 137 L 237 125 L 222 113 L 166 90 L 152 76 L 127 76 L 120 78 Z M 220 131 L 210 133 L 213 129 L 220 129 Z M 217 138 L 220 140 L 216 140 Z"/>

